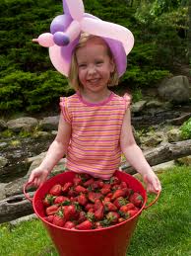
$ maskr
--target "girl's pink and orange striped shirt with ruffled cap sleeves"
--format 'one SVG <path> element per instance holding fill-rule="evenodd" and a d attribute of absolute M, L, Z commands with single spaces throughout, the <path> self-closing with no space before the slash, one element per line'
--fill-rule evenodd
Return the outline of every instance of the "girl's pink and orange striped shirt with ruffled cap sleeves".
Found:
<path fill-rule="evenodd" d="M 79 93 L 61 98 L 64 120 L 72 127 L 66 168 L 108 179 L 119 168 L 120 133 L 130 97 L 114 93 L 103 102 L 85 102 Z"/>

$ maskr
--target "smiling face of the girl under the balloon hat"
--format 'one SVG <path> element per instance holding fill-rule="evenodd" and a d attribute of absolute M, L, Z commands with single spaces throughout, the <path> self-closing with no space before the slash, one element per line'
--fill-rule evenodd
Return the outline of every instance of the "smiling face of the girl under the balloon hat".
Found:
<path fill-rule="evenodd" d="M 84 90 L 100 93 L 107 89 L 114 62 L 106 44 L 99 38 L 90 39 L 76 51 L 79 80 Z"/>

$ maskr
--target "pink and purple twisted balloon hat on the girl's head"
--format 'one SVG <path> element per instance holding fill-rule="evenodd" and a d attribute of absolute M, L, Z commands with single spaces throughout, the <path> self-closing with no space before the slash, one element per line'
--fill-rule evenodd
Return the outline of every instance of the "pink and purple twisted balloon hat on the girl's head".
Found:
<path fill-rule="evenodd" d="M 126 55 L 134 45 L 133 34 L 123 26 L 98 19 L 85 13 L 82 0 L 63 0 L 64 14 L 55 17 L 50 25 L 51 33 L 44 33 L 33 40 L 49 47 L 49 56 L 54 67 L 66 77 L 71 64 L 73 49 L 80 35 L 86 32 L 101 37 L 108 44 L 117 67 L 119 77 L 127 66 Z"/>

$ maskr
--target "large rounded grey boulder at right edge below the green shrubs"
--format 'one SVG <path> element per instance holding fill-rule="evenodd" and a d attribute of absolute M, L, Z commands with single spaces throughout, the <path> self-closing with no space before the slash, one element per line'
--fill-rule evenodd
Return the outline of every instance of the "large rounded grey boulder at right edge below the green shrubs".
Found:
<path fill-rule="evenodd" d="M 165 80 L 159 85 L 158 91 L 162 100 L 173 103 L 185 103 L 191 97 L 189 80 L 183 75 L 174 76 Z"/>

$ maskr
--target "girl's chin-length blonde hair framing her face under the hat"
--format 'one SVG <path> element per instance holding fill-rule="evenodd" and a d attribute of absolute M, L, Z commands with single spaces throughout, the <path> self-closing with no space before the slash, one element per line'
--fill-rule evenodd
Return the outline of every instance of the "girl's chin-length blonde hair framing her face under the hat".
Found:
<path fill-rule="evenodd" d="M 69 75 L 68 75 L 68 79 L 69 79 L 69 84 L 71 87 L 73 87 L 76 91 L 78 91 L 80 88 L 83 87 L 83 85 L 81 84 L 79 77 L 78 77 L 78 63 L 77 63 L 77 57 L 76 57 L 76 51 L 77 49 L 83 47 L 84 45 L 86 45 L 86 43 L 92 39 L 100 39 L 106 46 L 106 50 L 107 50 L 107 54 L 110 57 L 110 59 L 112 59 L 112 61 L 114 62 L 114 71 L 110 74 L 110 79 L 109 79 L 109 84 L 108 86 L 115 86 L 118 84 L 119 82 L 119 76 L 117 73 L 117 69 L 116 69 L 116 64 L 113 58 L 113 55 L 111 53 L 111 50 L 109 48 L 109 46 L 104 42 L 104 40 L 102 40 L 99 37 L 87 34 L 87 33 L 82 33 L 81 34 L 81 38 L 79 40 L 79 43 L 76 45 L 74 52 L 72 54 L 72 60 L 71 60 L 71 65 L 70 65 L 70 70 L 69 70 Z"/>

